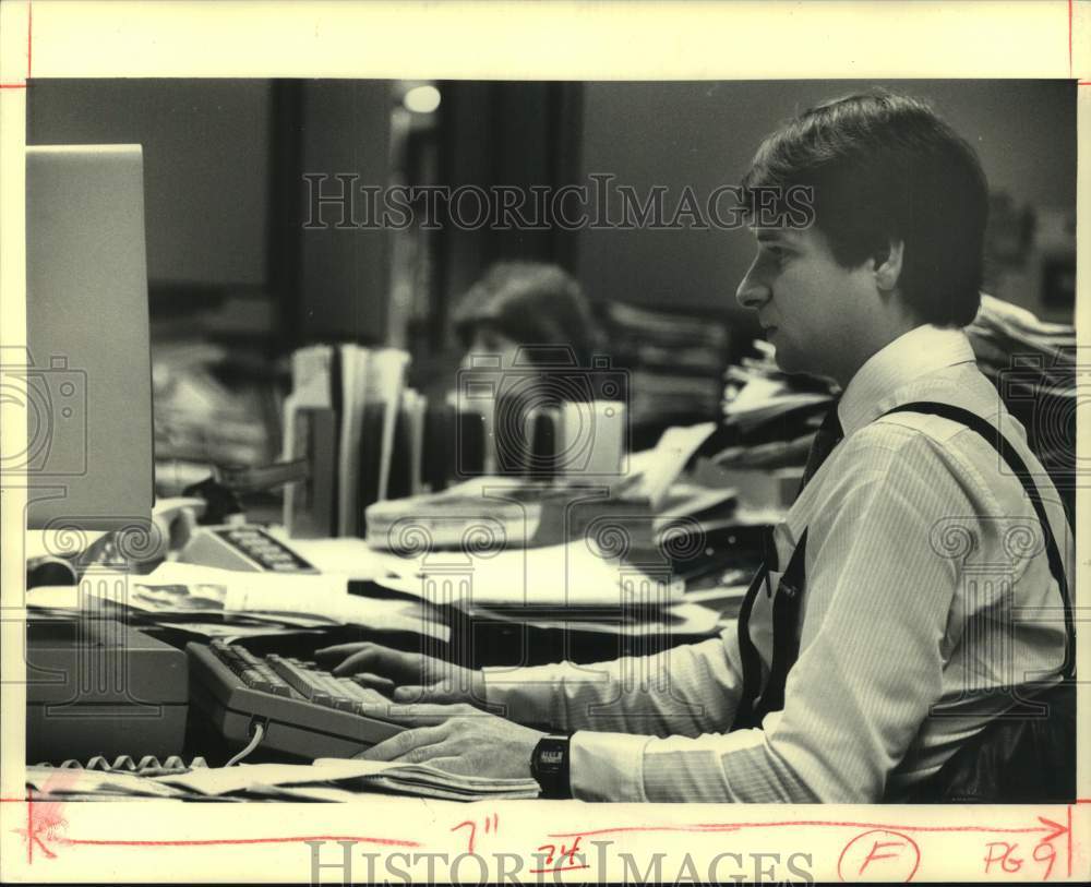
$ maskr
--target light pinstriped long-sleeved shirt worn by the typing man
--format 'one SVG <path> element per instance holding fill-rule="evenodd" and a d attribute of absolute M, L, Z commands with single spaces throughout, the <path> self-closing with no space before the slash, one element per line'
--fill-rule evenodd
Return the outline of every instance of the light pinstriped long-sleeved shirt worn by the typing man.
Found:
<path fill-rule="evenodd" d="M 849 383 L 838 406 L 844 440 L 776 528 L 787 564 L 810 527 L 806 588 L 784 708 L 760 729 L 729 732 L 742 690 L 734 628 L 655 657 L 487 670 L 487 697 L 507 717 L 576 731 L 576 798 L 897 801 L 1010 708 L 1019 685 L 1059 675 L 1059 590 L 1021 484 L 961 424 L 878 418 L 912 400 L 999 424 L 1034 475 L 1075 575 L 1060 500 L 966 335 L 918 327 Z M 764 592 L 750 632 L 767 674 Z"/>

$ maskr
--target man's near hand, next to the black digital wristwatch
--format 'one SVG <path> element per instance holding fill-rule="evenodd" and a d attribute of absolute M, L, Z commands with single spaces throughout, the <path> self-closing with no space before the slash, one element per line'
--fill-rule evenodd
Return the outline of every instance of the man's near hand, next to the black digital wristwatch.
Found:
<path fill-rule="evenodd" d="M 494 779 L 528 779 L 530 758 L 538 741 L 547 735 L 495 715 L 473 709 L 452 714 L 463 706 L 415 706 L 451 716 L 442 723 L 418 727 L 392 736 L 357 755 L 365 760 L 400 760 L 429 764 L 454 774 Z M 413 718 L 417 722 L 420 711 Z"/>

